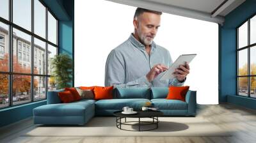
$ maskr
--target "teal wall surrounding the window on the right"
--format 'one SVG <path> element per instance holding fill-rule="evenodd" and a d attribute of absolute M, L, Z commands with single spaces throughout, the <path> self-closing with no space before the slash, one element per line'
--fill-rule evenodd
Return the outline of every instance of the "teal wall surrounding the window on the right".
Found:
<path fill-rule="evenodd" d="M 236 27 L 256 14 L 256 0 L 247 0 L 225 17 L 220 31 L 220 102 L 234 103 L 255 109 L 253 99 L 236 96 Z M 250 101 L 250 102 L 248 102 Z"/>

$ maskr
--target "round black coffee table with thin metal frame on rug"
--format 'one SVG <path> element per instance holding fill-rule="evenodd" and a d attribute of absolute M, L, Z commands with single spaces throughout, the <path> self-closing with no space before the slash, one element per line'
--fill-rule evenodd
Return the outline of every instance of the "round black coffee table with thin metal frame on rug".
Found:
<path fill-rule="evenodd" d="M 116 127 L 120 130 L 126 130 L 122 128 L 122 124 L 125 125 L 131 125 L 131 126 L 138 126 L 139 130 L 127 130 L 127 131 L 150 131 L 158 128 L 159 123 L 159 116 L 163 116 L 163 112 L 159 110 L 138 110 L 137 114 L 122 114 L 122 110 L 114 112 L 114 116 L 116 116 Z M 126 121 L 127 117 L 132 118 L 138 118 L 138 121 Z M 141 118 L 151 118 L 152 121 L 141 121 Z M 124 122 L 122 122 L 122 119 L 125 119 Z M 138 123 L 138 124 L 131 124 L 131 123 Z M 154 125 L 153 128 L 150 128 L 148 130 L 141 130 L 141 126 L 147 126 L 147 125 Z"/>

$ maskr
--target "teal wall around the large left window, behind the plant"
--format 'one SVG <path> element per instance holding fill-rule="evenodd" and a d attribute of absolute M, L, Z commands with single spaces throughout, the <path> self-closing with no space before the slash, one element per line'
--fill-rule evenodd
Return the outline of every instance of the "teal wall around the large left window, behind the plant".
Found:
<path fill-rule="evenodd" d="M 74 0 L 42 0 L 59 20 L 59 41 L 60 53 L 67 53 L 74 59 Z M 74 81 L 74 71 L 73 71 Z M 74 82 L 70 84 L 74 85 Z M 0 110 L 0 127 L 15 123 L 22 119 L 33 116 L 35 107 L 45 105 L 46 100 L 41 102 L 28 103 Z"/>

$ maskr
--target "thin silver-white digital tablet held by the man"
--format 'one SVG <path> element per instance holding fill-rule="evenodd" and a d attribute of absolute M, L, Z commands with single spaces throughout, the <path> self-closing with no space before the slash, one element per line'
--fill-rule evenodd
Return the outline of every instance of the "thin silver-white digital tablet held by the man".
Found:
<path fill-rule="evenodd" d="M 167 80 L 167 79 L 173 79 L 174 75 L 172 74 L 175 72 L 176 68 L 179 68 L 179 65 L 185 65 L 185 62 L 188 64 L 194 59 L 196 54 L 184 54 L 180 55 L 178 59 L 169 67 L 169 69 L 163 74 L 163 76 L 160 78 L 160 80 Z"/>

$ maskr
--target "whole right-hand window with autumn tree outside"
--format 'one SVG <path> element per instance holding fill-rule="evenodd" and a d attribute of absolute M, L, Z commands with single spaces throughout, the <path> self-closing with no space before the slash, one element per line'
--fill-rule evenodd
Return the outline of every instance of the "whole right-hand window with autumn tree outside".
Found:
<path fill-rule="evenodd" d="M 237 94 L 256 98 L 256 16 L 237 28 Z"/>

